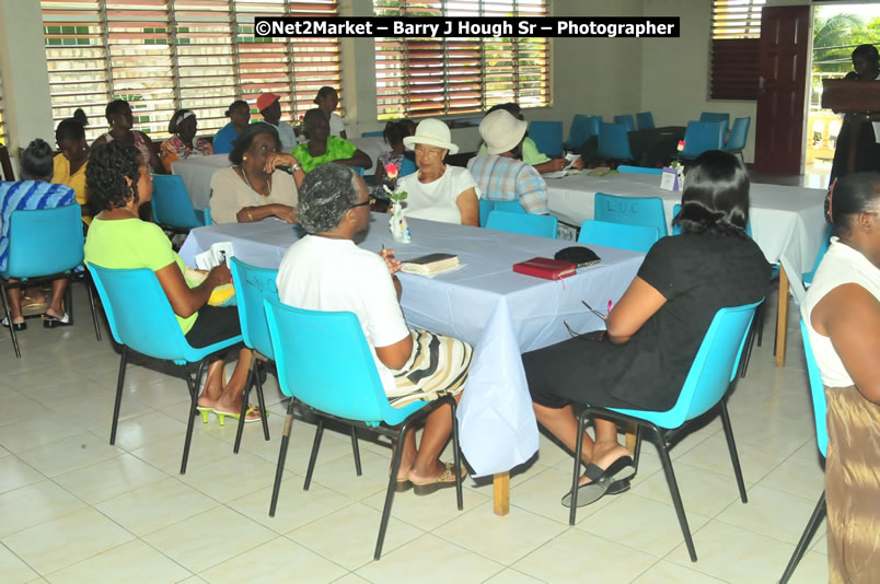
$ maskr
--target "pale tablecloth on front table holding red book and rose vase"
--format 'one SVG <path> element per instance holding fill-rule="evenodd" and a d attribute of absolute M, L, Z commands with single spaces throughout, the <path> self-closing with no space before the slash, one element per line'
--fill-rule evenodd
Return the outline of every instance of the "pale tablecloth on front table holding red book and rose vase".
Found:
<path fill-rule="evenodd" d="M 401 273 L 401 304 L 409 326 L 474 344 L 459 408 L 462 447 L 476 476 L 503 472 L 537 451 L 520 354 L 569 338 L 563 319 L 578 331 L 603 328 L 581 300 L 593 306 L 616 302 L 644 255 L 594 247 L 601 264 L 554 282 L 516 273 L 511 266 L 535 256 L 553 257 L 566 242 L 416 219 L 409 226 L 413 243 L 395 245 L 387 215 L 373 213 L 372 229 L 360 245 L 379 252 L 384 244 L 402 260 L 430 252 L 459 255 L 462 268 L 435 278 Z M 228 241 L 243 261 L 277 268 L 298 237 L 294 227 L 274 219 L 199 227 L 189 233 L 181 256 L 195 265 L 195 254 Z"/>

